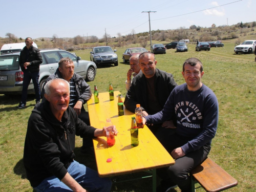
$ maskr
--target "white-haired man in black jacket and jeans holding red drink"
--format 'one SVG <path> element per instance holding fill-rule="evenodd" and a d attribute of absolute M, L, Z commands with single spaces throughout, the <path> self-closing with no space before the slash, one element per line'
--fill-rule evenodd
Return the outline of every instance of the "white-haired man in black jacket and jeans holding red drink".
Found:
<path fill-rule="evenodd" d="M 36 191 L 110 191 L 111 180 L 74 160 L 75 137 L 106 136 L 81 121 L 69 106 L 69 82 L 53 79 L 45 86 L 46 101 L 29 117 L 24 145 L 27 178 Z M 117 130 L 114 127 L 115 135 Z"/>

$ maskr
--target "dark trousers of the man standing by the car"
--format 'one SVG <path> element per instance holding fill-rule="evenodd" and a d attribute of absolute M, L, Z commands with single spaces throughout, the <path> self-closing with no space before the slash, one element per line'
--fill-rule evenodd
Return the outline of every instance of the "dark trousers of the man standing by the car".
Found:
<path fill-rule="evenodd" d="M 27 101 L 27 95 L 28 95 L 28 87 L 30 84 L 30 81 L 33 81 L 34 84 L 34 90 L 35 90 L 35 100 L 40 101 L 41 96 L 40 96 L 40 86 L 39 86 L 39 72 L 24 72 L 23 75 L 23 84 L 22 84 L 22 103 L 26 104 Z"/>

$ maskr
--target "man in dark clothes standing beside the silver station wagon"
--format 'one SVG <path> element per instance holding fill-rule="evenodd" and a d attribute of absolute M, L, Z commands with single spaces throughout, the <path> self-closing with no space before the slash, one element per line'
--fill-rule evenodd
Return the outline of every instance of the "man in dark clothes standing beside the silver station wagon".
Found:
<path fill-rule="evenodd" d="M 39 50 L 33 47 L 31 37 L 25 39 L 26 46 L 20 51 L 19 66 L 23 71 L 22 101 L 17 108 L 24 108 L 27 103 L 28 87 L 32 79 L 35 90 L 35 102 L 40 102 L 39 66 L 42 63 L 42 56 Z"/>

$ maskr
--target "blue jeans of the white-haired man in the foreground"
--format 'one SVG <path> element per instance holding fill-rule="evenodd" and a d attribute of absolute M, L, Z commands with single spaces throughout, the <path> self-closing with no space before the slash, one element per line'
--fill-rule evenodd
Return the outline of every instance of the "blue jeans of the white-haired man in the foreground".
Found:
<path fill-rule="evenodd" d="M 84 188 L 92 191 L 110 191 L 112 182 L 109 178 L 100 178 L 95 170 L 86 167 L 77 161 L 73 161 L 69 168 L 68 173 Z M 34 188 L 37 192 L 41 191 L 73 191 L 66 184 L 62 183 L 55 176 L 48 177 L 42 181 L 37 187 Z"/>

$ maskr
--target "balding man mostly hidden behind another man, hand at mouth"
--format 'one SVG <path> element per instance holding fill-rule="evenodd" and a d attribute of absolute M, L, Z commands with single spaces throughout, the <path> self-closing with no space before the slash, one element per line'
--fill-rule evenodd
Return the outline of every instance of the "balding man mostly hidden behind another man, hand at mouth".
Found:
<path fill-rule="evenodd" d="M 132 85 L 132 76 L 133 78 L 140 72 L 139 66 L 139 55 L 132 55 L 130 57 L 130 69 L 127 72 L 127 79 L 125 81 L 125 88 L 128 91 Z"/>

